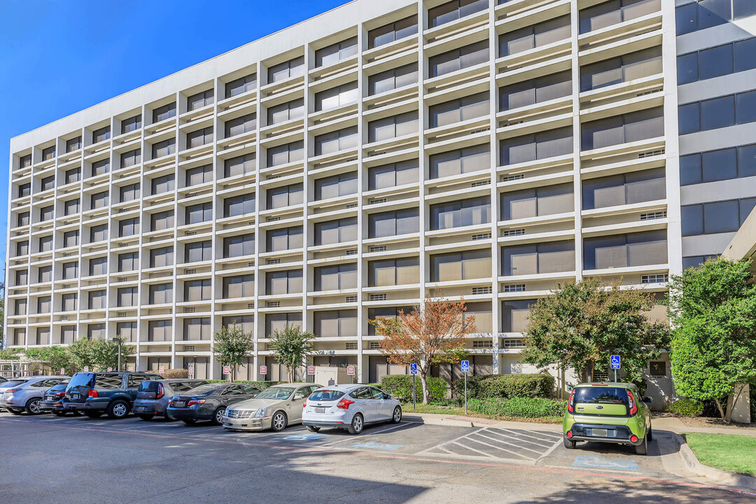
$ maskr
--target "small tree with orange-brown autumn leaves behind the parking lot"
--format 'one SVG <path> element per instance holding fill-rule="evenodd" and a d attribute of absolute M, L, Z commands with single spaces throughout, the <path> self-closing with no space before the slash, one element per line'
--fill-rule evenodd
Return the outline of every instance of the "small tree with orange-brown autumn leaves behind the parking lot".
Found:
<path fill-rule="evenodd" d="M 367 322 L 383 336 L 380 351 L 391 363 L 407 366 L 417 364 L 423 404 L 428 404 L 428 376 L 432 366 L 459 362 L 466 355 L 466 335 L 475 332 L 475 316 L 465 316 L 464 298 L 451 301 L 434 292 L 398 317 L 376 317 Z"/>

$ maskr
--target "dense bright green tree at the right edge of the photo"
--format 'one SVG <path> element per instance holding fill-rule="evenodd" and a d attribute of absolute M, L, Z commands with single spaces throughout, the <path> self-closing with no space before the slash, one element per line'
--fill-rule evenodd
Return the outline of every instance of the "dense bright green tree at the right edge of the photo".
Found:
<path fill-rule="evenodd" d="M 675 389 L 691 399 L 714 400 L 730 422 L 742 384 L 756 383 L 751 261 L 716 258 L 689 267 L 672 277 L 668 300 Z"/>

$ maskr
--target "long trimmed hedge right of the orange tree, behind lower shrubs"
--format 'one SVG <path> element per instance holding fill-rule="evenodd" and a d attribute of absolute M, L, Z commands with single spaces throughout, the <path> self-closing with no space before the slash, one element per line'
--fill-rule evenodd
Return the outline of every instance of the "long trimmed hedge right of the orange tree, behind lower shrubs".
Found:
<path fill-rule="evenodd" d="M 454 382 L 454 394 L 464 397 L 465 381 Z M 544 397 L 554 395 L 554 377 L 543 374 L 485 375 L 467 377 L 467 398 Z"/>

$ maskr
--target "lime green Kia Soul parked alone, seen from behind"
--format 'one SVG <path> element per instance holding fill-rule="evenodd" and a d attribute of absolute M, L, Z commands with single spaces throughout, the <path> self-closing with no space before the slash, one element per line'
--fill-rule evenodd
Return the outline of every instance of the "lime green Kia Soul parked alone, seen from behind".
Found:
<path fill-rule="evenodd" d="M 652 439 L 651 411 L 631 383 L 581 383 L 572 389 L 562 420 L 565 448 L 578 441 L 632 444 L 646 455 Z"/>

